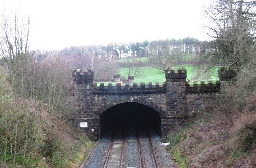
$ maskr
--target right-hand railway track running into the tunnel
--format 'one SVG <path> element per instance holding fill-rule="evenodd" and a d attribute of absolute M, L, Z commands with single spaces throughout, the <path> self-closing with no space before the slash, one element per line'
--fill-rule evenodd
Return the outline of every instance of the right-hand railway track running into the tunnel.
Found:
<path fill-rule="evenodd" d="M 138 127 L 136 128 L 136 136 L 139 146 L 140 168 L 159 168 L 148 130 L 144 127 Z"/>

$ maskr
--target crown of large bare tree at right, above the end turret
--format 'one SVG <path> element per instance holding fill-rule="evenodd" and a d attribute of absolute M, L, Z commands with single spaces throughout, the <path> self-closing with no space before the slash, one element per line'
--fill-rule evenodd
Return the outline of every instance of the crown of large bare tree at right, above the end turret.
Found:
<path fill-rule="evenodd" d="M 202 50 L 200 66 L 223 65 L 237 72 L 255 69 L 256 1 L 215 0 L 205 12 L 213 40 Z"/>

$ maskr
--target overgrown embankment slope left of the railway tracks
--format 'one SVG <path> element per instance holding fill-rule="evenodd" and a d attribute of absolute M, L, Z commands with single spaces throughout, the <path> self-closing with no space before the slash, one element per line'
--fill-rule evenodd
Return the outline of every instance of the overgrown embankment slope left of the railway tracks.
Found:
<path fill-rule="evenodd" d="M 94 144 L 63 111 L 19 98 L 0 66 L 0 168 L 77 168 Z"/>

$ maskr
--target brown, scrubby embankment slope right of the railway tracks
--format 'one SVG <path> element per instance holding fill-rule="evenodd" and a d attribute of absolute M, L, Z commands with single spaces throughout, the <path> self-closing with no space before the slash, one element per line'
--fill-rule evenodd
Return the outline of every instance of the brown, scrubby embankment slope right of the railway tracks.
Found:
<path fill-rule="evenodd" d="M 179 168 L 256 168 L 255 130 L 255 111 L 222 106 L 169 135 L 167 148 Z"/>

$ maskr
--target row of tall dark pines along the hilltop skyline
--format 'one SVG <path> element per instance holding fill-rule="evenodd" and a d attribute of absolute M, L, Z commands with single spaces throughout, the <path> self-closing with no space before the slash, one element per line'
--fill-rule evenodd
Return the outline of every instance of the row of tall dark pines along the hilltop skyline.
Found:
<path fill-rule="evenodd" d="M 196 38 L 186 37 L 178 40 L 145 40 L 128 44 L 110 43 L 107 45 L 71 46 L 61 50 L 61 52 L 65 55 L 93 55 L 94 57 L 118 57 L 122 59 L 126 55 L 146 57 L 149 52 L 153 52 L 158 47 L 169 48 L 168 50 L 180 50 L 183 54 L 196 54 L 199 53 L 200 45 L 201 41 Z"/>

